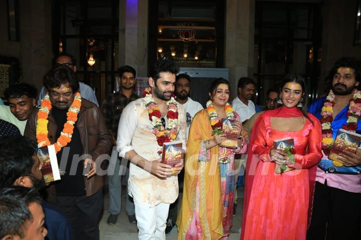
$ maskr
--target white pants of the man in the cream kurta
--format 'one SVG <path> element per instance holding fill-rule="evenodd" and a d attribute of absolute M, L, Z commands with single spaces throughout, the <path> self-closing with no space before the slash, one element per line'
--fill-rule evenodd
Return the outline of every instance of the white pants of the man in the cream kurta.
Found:
<path fill-rule="evenodd" d="M 139 203 L 134 198 L 139 240 L 165 240 L 169 205 L 169 203 L 159 203 L 156 206 L 149 206 Z"/>

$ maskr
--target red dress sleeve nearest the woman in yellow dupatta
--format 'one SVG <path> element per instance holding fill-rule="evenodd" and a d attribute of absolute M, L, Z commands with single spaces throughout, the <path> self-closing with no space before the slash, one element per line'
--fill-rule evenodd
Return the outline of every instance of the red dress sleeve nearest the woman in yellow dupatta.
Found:
<path fill-rule="evenodd" d="M 262 161 L 271 161 L 271 158 L 269 156 L 271 146 L 267 146 L 267 131 L 264 118 L 260 118 L 257 121 L 255 127 L 253 128 L 253 131 L 257 132 L 253 134 L 253 141 L 250 145 L 252 152 L 258 155 L 259 159 L 261 159 Z"/>

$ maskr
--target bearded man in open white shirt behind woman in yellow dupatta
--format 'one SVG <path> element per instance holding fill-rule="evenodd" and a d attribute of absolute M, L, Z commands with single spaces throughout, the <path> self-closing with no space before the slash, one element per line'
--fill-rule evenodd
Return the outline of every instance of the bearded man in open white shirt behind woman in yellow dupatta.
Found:
<path fill-rule="evenodd" d="M 185 109 L 186 116 L 187 116 L 187 139 L 188 139 L 188 133 L 191 126 L 191 122 L 200 110 L 203 109 L 202 104 L 199 102 L 196 102 L 190 98 L 191 94 L 191 77 L 187 74 L 181 73 L 178 74 L 175 78 L 175 100 L 182 104 L 182 106 Z M 178 175 L 178 182 L 179 187 L 183 188 L 183 179 L 184 179 L 184 171 L 182 171 Z M 176 226 L 175 220 L 177 216 L 178 211 L 178 205 L 179 205 L 179 199 L 176 199 L 174 203 L 170 204 L 169 207 L 169 214 L 168 214 L 168 220 L 166 223 L 165 228 L 165 235 L 170 234 L 170 231 Z"/>

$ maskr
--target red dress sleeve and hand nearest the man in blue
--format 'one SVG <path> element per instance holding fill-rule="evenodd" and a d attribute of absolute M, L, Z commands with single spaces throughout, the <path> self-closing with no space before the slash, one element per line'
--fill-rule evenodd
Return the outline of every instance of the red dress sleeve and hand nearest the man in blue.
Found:
<path fill-rule="evenodd" d="M 321 125 L 316 118 L 311 117 L 313 126 L 310 127 L 308 135 L 308 153 L 306 155 L 295 154 L 295 164 L 288 165 L 292 168 L 310 168 L 316 165 L 322 157 L 321 153 Z"/>

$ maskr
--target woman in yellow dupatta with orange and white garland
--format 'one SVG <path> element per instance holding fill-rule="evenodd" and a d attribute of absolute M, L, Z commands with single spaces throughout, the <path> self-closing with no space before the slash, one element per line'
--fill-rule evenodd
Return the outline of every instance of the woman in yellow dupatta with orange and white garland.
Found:
<path fill-rule="evenodd" d="M 192 121 L 183 200 L 177 218 L 178 239 L 220 239 L 229 235 L 235 182 L 234 152 L 246 151 L 242 124 L 228 103 L 229 87 L 225 79 L 214 80 L 207 109 L 199 111 Z M 239 137 L 237 149 L 219 145 L 226 139 L 221 132 L 222 118 L 236 120 L 233 128 Z"/>

